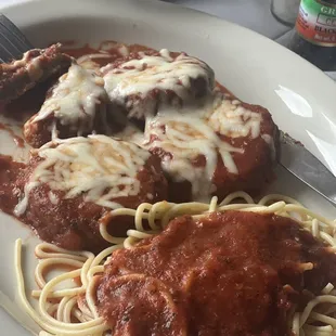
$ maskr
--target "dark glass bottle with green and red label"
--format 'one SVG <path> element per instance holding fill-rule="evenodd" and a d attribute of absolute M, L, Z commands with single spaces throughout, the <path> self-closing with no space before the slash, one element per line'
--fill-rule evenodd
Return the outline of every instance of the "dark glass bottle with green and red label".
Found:
<path fill-rule="evenodd" d="M 301 0 L 288 48 L 322 70 L 336 70 L 336 0 Z"/>

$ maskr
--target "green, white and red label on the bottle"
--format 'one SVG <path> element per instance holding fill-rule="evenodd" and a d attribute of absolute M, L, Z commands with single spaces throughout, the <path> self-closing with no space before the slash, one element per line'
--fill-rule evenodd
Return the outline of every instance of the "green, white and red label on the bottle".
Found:
<path fill-rule="evenodd" d="M 323 0 L 301 0 L 296 30 L 311 43 L 336 47 L 336 4 Z"/>

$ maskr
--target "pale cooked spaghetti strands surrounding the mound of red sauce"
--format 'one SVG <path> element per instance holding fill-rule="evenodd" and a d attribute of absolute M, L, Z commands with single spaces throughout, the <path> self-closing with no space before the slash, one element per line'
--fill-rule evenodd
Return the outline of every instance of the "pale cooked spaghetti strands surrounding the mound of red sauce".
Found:
<path fill-rule="evenodd" d="M 234 202 L 234 203 L 233 203 Z M 113 245 L 98 256 L 87 251 L 68 251 L 54 245 L 42 243 L 36 247 L 36 256 L 40 262 L 35 271 L 38 290 L 33 290 L 33 297 L 38 299 L 36 309 L 29 303 L 25 295 L 25 282 L 22 270 L 22 243 L 18 240 L 15 247 L 16 277 L 18 282 L 20 299 L 25 311 L 43 329 L 40 335 L 105 335 L 109 326 L 99 316 L 95 306 L 94 288 L 99 274 L 103 272 L 104 262 L 118 248 L 131 248 L 139 241 L 159 233 L 169 221 L 182 215 L 199 218 L 212 211 L 254 211 L 259 214 L 274 214 L 298 220 L 311 234 L 329 245 L 334 251 L 336 241 L 334 230 L 336 222 L 314 214 L 305 208 L 297 201 L 283 195 L 267 195 L 258 203 L 244 192 L 236 192 L 227 196 L 218 204 L 212 197 L 209 204 L 184 203 L 173 204 L 159 202 L 156 204 L 141 204 L 137 210 L 120 208 L 111 211 L 107 217 L 132 216 L 134 230 L 127 232 L 127 237 L 120 242 L 108 234 L 104 219 L 100 224 L 102 236 Z M 146 229 L 148 227 L 148 229 Z M 121 243 L 121 244 L 120 244 Z M 66 271 L 47 280 L 50 266 L 66 266 Z M 302 266 L 303 267 L 303 266 Z M 307 270 L 311 263 L 305 266 Z M 73 280 L 78 285 L 60 284 Z M 293 333 L 297 336 L 328 336 L 336 332 L 336 289 L 327 284 L 321 295 L 308 302 L 302 312 L 296 312 L 293 320 Z"/>

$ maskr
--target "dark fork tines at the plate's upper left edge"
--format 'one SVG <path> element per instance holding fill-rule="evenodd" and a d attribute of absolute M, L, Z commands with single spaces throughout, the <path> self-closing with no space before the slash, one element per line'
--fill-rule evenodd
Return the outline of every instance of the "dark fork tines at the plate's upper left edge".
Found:
<path fill-rule="evenodd" d="M 2 13 L 0 13 L 0 63 L 20 60 L 34 49 L 23 33 Z"/>

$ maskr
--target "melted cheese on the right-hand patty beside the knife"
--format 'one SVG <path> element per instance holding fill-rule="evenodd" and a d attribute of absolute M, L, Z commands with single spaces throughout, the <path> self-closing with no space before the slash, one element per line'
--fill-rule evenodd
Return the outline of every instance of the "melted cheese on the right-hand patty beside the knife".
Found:
<path fill-rule="evenodd" d="M 212 179 L 219 156 L 227 170 L 237 175 L 233 154 L 244 153 L 220 135 L 255 139 L 260 137 L 261 120 L 260 114 L 242 107 L 240 101 L 227 100 L 215 92 L 205 106 L 161 109 L 155 117 L 147 118 L 145 146 L 166 152 L 164 170 L 177 182 L 190 181 L 194 199 L 207 199 L 216 191 Z M 204 157 L 205 163 L 197 164 L 199 157 Z"/>

